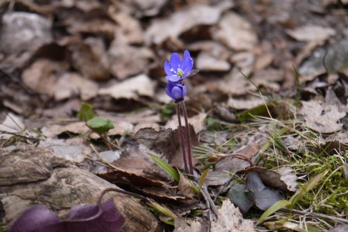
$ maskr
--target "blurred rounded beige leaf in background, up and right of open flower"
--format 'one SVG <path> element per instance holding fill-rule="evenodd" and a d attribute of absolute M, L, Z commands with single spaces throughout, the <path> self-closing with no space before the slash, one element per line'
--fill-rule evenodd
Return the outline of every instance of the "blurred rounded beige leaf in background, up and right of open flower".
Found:
<path fill-rule="evenodd" d="M 236 13 L 224 15 L 212 36 L 214 40 L 237 51 L 252 49 L 258 42 L 251 24 Z"/>

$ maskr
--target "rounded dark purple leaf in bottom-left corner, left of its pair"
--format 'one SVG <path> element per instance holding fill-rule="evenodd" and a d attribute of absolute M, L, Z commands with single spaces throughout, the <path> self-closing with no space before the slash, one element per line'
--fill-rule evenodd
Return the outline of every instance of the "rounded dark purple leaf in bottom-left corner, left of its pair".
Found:
<path fill-rule="evenodd" d="M 61 219 L 46 206 L 33 206 L 22 213 L 10 232 L 63 232 Z"/>

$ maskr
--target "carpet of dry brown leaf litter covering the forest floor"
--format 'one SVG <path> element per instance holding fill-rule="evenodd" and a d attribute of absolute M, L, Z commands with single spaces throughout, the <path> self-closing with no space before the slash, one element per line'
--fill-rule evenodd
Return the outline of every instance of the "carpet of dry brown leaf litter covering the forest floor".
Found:
<path fill-rule="evenodd" d="M 156 216 L 151 223 L 169 231 L 340 228 L 348 138 L 348 22 L 340 2 L 4 1 L 0 146 L 46 149 L 65 163 L 42 170 L 69 163 L 151 199 L 121 214 L 136 220 L 146 207 Z M 185 49 L 200 69 L 184 80 L 193 176 L 182 171 L 175 107 L 163 97 L 163 61 Z M 93 114 L 78 121 L 86 101 Z M 86 123 L 93 118 L 97 124 Z M 46 169 L 25 180 L 44 181 Z M 301 192 L 313 178 L 313 189 Z M 293 212 L 284 205 L 256 227 L 277 201 L 294 201 Z M 3 224 L 1 217 L 5 231 L 17 218 Z M 125 228 L 133 224 L 125 218 Z"/>

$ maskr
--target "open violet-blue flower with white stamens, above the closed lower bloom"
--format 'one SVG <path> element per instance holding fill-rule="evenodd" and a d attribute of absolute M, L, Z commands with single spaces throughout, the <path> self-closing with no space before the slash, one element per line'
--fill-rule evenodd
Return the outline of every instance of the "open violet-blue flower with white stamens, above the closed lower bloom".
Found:
<path fill-rule="evenodd" d="M 170 82 L 181 82 L 185 77 L 189 77 L 193 70 L 193 59 L 189 51 L 184 51 L 184 57 L 180 60 L 179 54 L 174 52 L 171 55 L 171 61 L 164 61 L 164 70 L 166 79 Z"/>

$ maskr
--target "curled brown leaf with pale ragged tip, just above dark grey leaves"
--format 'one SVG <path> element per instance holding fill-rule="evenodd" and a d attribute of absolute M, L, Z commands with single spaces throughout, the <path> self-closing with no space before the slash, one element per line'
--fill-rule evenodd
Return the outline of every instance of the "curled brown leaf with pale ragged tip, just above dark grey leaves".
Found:
<path fill-rule="evenodd" d="M 262 182 L 270 187 L 274 187 L 284 192 L 296 191 L 296 174 L 292 173 L 290 168 L 281 168 L 278 172 L 269 171 L 263 167 L 251 167 L 242 171 L 237 171 L 236 174 L 248 174 L 257 172 L 262 179 Z"/>

